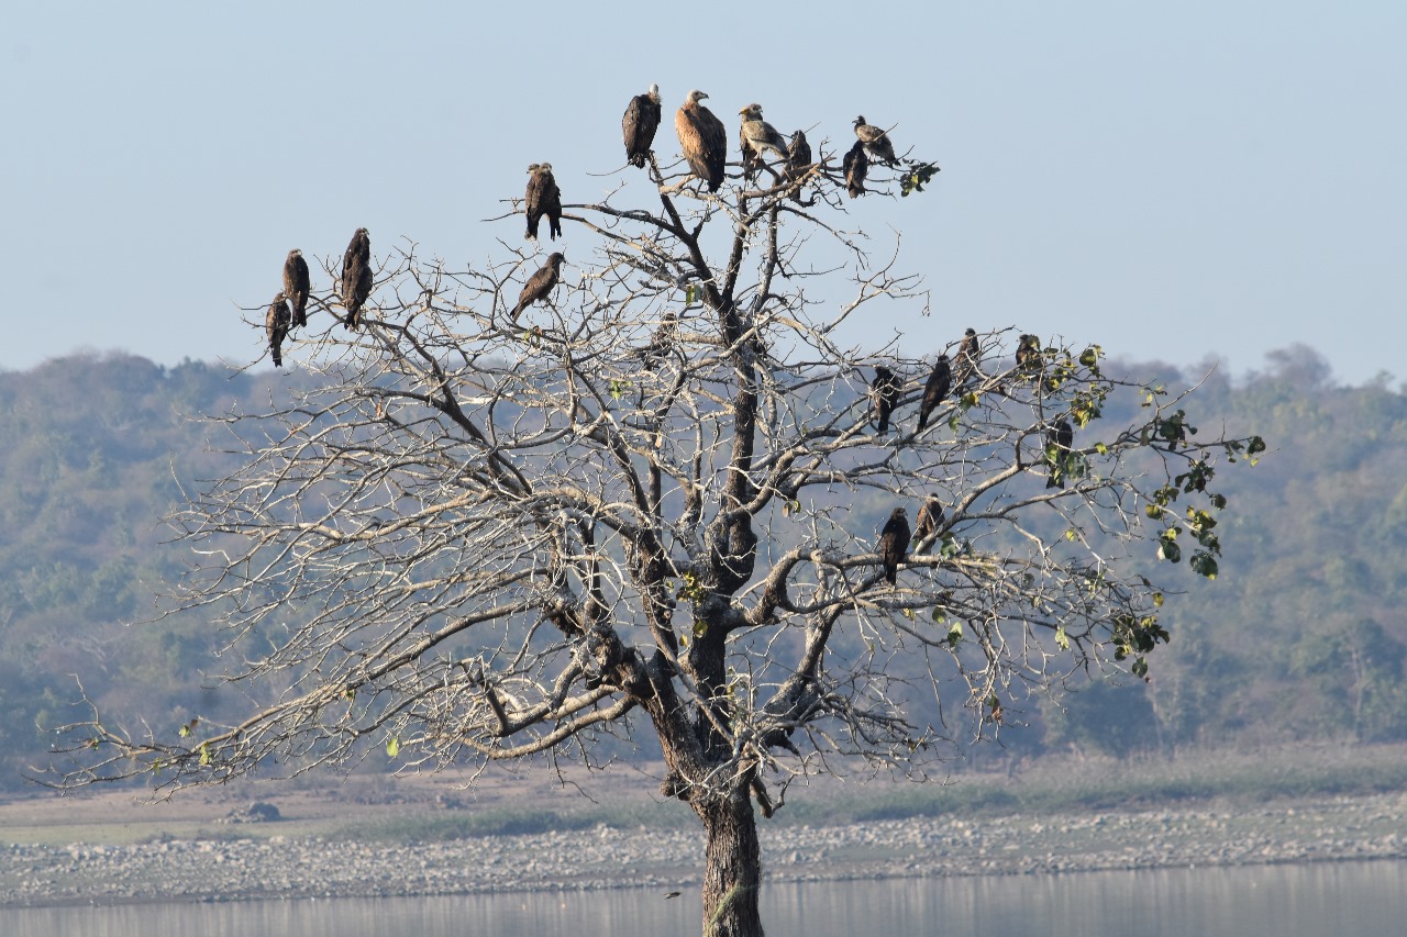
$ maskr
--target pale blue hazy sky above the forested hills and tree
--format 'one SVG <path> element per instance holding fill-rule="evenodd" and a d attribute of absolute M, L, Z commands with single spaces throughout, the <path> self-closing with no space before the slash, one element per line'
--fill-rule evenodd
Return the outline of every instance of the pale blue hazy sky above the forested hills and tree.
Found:
<path fill-rule="evenodd" d="M 377 255 L 502 259 L 522 219 L 483 219 L 525 166 L 602 194 L 657 82 L 661 159 L 698 87 L 730 136 L 750 101 L 832 151 L 864 114 L 943 166 L 850 221 L 879 252 L 902 231 L 933 291 L 931 317 L 877 324 L 910 355 L 1014 325 L 1237 374 L 1304 342 L 1341 380 L 1407 378 L 1399 0 L 488 6 L 10 0 L 0 367 L 246 363 L 238 307 L 357 227 Z"/>

